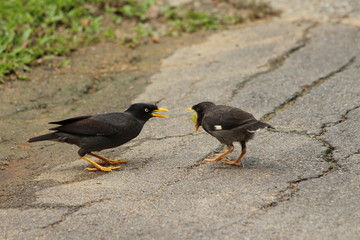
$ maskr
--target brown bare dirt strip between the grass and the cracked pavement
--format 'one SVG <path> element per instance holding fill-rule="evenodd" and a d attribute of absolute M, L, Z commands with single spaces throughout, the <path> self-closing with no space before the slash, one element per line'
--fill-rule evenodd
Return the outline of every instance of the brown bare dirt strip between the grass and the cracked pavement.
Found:
<path fill-rule="evenodd" d="M 134 50 L 101 43 L 74 52 L 66 68 L 38 67 L 27 81 L 1 85 L 0 207 L 26 207 L 34 201 L 34 192 L 67 183 L 36 180 L 41 173 L 78 159 L 75 146 L 26 143 L 30 137 L 48 132 L 48 122 L 123 111 L 159 70 L 161 59 L 209 34 L 163 38 L 158 44 Z M 70 182 L 104 174 L 88 173 L 83 166 L 75 168 L 78 174 Z"/>

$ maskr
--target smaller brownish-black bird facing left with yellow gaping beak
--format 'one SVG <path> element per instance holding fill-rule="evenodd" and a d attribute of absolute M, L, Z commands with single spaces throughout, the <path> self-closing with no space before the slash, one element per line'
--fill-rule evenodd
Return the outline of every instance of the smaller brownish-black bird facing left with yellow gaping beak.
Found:
<path fill-rule="evenodd" d="M 196 112 L 197 116 L 193 116 L 196 131 L 202 126 L 207 133 L 229 148 L 214 159 L 205 159 L 207 162 L 226 161 L 227 164 L 242 167 L 241 158 L 246 154 L 246 142 L 254 137 L 256 130 L 273 128 L 239 108 L 215 105 L 212 102 L 201 102 L 188 110 Z M 242 151 L 235 161 L 230 161 L 223 157 L 234 151 L 234 142 L 240 142 Z"/>

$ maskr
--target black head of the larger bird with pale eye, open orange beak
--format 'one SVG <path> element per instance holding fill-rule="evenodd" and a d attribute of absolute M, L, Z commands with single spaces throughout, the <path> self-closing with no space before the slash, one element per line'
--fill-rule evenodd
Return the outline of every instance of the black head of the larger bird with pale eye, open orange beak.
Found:
<path fill-rule="evenodd" d="M 168 118 L 167 116 L 156 113 L 168 111 L 169 110 L 165 108 L 158 108 L 158 106 L 154 104 L 135 103 L 132 104 L 125 112 L 131 113 L 131 115 L 133 115 L 139 120 L 147 121 L 152 117 Z"/>

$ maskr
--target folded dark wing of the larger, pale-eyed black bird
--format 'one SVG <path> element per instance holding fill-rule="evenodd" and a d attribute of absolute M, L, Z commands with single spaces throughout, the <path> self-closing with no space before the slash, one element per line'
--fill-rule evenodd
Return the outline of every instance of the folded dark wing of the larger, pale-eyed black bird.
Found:
<path fill-rule="evenodd" d="M 108 113 L 94 116 L 83 116 L 52 122 L 61 126 L 51 128 L 59 132 L 76 135 L 111 136 L 123 132 L 134 124 L 130 115 L 124 113 Z"/>

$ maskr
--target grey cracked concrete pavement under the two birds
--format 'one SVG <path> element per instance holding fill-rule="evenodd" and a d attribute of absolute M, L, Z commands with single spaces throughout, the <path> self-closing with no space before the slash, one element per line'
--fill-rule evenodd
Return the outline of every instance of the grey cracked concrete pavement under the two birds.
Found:
<path fill-rule="evenodd" d="M 74 154 L 37 176 L 56 186 L 0 209 L 0 238 L 359 239 L 360 3 L 269 2 L 281 17 L 215 33 L 161 61 L 133 102 L 160 99 L 170 118 L 104 151 L 127 165 L 72 181 L 86 166 Z M 249 142 L 244 168 L 202 162 L 221 147 L 193 132 L 185 109 L 204 100 L 276 128 Z"/>

